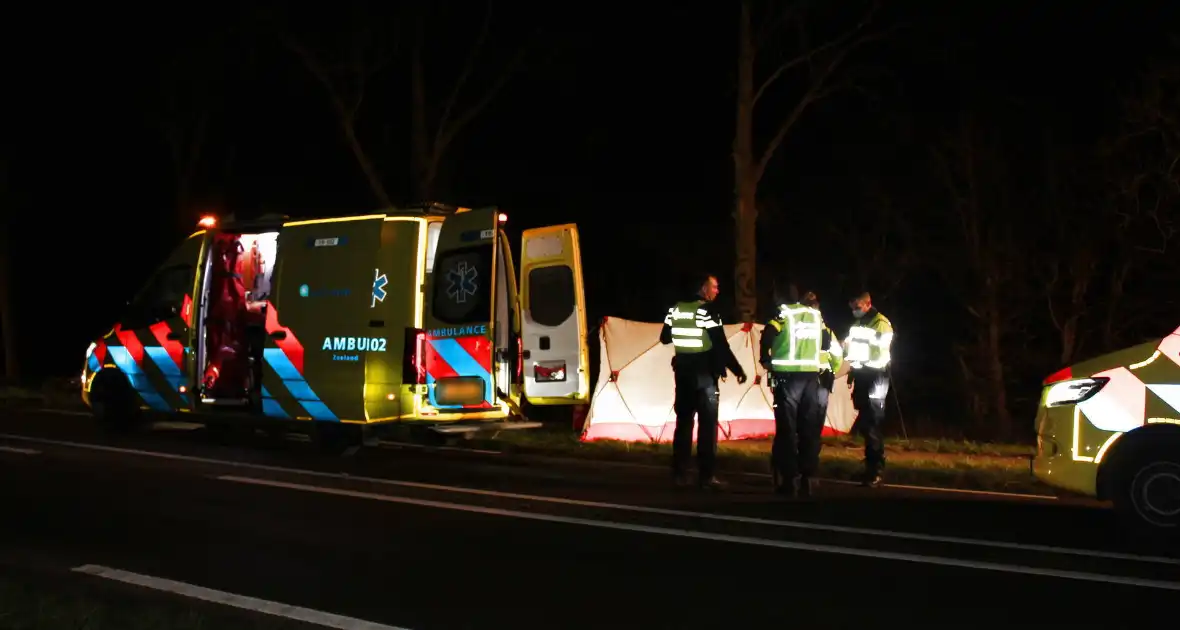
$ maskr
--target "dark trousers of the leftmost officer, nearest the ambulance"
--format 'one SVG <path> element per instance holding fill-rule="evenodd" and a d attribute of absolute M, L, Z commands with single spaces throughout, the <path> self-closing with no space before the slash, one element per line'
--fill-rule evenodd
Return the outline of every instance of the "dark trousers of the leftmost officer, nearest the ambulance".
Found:
<path fill-rule="evenodd" d="M 713 478 L 717 460 L 717 403 L 721 392 L 716 379 L 676 379 L 676 431 L 671 440 L 673 474 L 688 473 L 693 459 L 693 422 L 696 421 L 696 467 L 701 480 Z"/>

